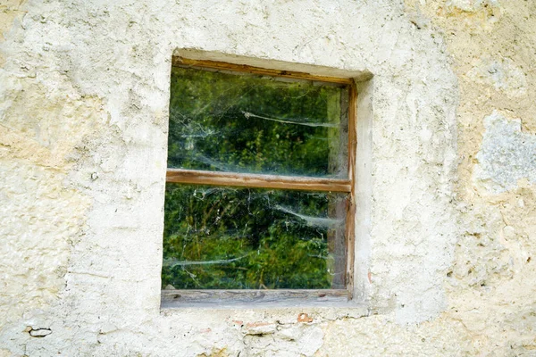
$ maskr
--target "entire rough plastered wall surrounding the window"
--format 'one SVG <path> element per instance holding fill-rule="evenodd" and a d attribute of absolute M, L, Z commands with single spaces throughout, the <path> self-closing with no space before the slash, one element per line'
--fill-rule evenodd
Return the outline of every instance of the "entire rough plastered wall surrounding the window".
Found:
<path fill-rule="evenodd" d="M 536 355 L 535 6 L 3 2 L 0 356 Z M 178 48 L 373 74 L 354 306 L 160 310 Z"/>

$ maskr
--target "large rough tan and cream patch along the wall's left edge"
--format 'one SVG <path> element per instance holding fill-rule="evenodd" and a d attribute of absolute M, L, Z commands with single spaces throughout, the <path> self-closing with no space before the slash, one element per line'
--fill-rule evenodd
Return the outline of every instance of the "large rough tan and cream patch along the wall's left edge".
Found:
<path fill-rule="evenodd" d="M 0 281 L 2 328 L 63 292 L 91 204 L 68 172 L 105 116 L 54 71 L 0 69 L 0 83 L 0 271 L 10 277 Z"/>

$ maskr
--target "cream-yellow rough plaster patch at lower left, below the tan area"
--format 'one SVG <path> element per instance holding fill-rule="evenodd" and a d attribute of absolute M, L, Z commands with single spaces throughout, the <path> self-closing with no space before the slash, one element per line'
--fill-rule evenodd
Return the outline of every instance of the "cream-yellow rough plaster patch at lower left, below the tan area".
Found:
<path fill-rule="evenodd" d="M 11 277 L 0 281 L 0 328 L 27 309 L 45 309 L 63 290 L 71 240 L 88 206 L 64 179 L 28 162 L 0 163 L 0 256 L 9 257 L 0 271 Z"/>

